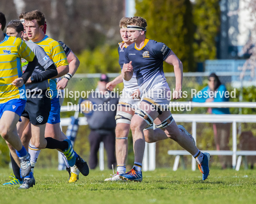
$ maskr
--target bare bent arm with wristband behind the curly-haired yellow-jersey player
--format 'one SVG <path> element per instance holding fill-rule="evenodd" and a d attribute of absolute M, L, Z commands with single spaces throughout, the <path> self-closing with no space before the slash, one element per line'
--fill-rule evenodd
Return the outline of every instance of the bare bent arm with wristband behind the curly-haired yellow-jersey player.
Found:
<path fill-rule="evenodd" d="M 74 74 L 76 73 L 76 70 L 78 69 L 78 67 L 80 65 L 80 61 L 77 58 L 77 56 L 72 52 L 72 50 L 70 50 L 70 52 L 68 53 L 67 60 L 69 63 L 68 73 L 70 73 L 70 74 L 72 74 L 72 76 L 74 76 Z M 68 85 L 68 80 L 66 78 L 62 78 L 57 84 L 57 90 L 65 89 L 67 87 L 67 85 Z"/>

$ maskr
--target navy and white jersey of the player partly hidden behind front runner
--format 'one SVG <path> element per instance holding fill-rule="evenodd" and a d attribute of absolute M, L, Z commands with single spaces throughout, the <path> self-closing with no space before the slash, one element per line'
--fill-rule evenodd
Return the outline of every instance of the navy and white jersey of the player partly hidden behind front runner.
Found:
<path fill-rule="evenodd" d="M 124 60 L 125 60 L 124 51 L 125 51 L 126 47 L 123 47 L 124 41 L 121 42 L 121 43 L 118 43 L 118 44 L 119 44 L 119 46 L 118 46 L 118 54 L 119 54 L 118 63 L 119 63 L 119 65 L 121 67 L 121 70 L 122 70 L 123 65 L 124 65 Z M 137 79 L 136 79 L 134 73 L 133 73 L 132 78 L 129 81 L 125 81 L 123 79 L 123 82 L 124 82 L 123 91 L 127 92 L 128 94 L 132 94 L 134 91 L 136 91 L 139 88 L 138 83 L 137 83 Z"/>

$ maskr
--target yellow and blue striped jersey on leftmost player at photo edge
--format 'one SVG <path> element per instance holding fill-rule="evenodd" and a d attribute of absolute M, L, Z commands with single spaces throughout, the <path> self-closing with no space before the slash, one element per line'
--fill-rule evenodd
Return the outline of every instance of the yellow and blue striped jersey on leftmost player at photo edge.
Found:
<path fill-rule="evenodd" d="M 35 57 L 22 39 L 4 35 L 0 42 L 0 104 L 17 98 L 26 100 L 25 84 L 17 88 L 12 82 L 22 76 L 21 58 L 31 62 Z"/>

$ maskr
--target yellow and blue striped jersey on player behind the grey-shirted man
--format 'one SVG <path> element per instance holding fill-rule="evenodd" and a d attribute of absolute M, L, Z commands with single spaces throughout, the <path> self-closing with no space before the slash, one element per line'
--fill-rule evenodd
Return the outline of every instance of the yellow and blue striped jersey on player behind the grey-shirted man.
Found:
<path fill-rule="evenodd" d="M 32 42 L 31 40 L 29 41 Z M 43 40 L 35 43 L 44 49 L 46 54 L 52 59 L 57 67 L 68 65 L 67 56 L 63 47 L 56 40 L 45 35 Z M 53 94 L 51 98 L 54 98 L 57 96 L 57 79 L 50 79 L 49 84 Z"/>

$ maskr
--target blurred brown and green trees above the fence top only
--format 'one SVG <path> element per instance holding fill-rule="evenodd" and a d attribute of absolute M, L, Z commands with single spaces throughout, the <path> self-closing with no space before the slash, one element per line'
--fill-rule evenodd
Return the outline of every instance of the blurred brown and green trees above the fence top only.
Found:
<path fill-rule="evenodd" d="M 216 58 L 220 27 L 219 0 L 136 0 L 136 14 L 147 19 L 147 37 L 164 42 L 183 62 L 197 71 L 197 63 Z M 46 34 L 65 42 L 80 61 L 78 73 L 119 72 L 117 43 L 124 0 L 2 0 L 7 22 L 24 11 L 40 10 Z M 171 65 L 164 64 L 171 72 Z"/>

